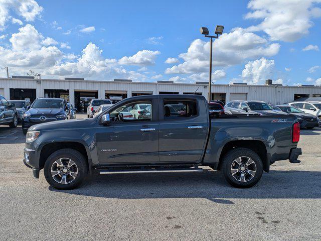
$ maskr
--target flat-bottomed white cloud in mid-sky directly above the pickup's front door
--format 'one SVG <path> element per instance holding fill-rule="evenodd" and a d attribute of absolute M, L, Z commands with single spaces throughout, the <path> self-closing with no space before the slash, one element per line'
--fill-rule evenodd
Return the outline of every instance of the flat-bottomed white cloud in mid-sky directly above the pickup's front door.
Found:
<path fill-rule="evenodd" d="M 141 50 L 133 56 L 122 57 L 118 62 L 123 65 L 154 65 L 154 60 L 159 54 L 159 51 Z"/>

